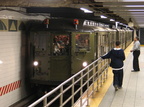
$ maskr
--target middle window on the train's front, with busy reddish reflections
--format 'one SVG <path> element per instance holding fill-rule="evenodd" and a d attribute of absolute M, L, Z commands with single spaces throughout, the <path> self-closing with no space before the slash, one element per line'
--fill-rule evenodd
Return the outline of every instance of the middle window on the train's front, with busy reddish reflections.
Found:
<path fill-rule="evenodd" d="M 53 55 L 69 55 L 69 35 L 53 35 Z"/>

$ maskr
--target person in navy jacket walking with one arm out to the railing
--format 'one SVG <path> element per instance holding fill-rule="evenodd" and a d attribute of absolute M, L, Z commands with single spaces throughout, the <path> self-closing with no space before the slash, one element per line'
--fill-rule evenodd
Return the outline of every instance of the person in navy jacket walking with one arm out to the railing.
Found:
<path fill-rule="evenodd" d="M 125 60 L 124 50 L 120 48 L 120 41 L 116 41 L 116 47 L 109 51 L 106 55 L 101 56 L 102 59 L 111 59 L 110 66 L 113 70 L 113 86 L 115 91 L 122 88 L 123 82 L 123 61 Z"/>

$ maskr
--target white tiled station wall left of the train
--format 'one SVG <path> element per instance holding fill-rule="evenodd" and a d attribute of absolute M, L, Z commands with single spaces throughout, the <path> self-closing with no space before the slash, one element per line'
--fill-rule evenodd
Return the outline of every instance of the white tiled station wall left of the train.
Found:
<path fill-rule="evenodd" d="M 7 18 L 10 16 L 14 20 L 45 19 L 44 16 L 26 16 L 8 10 L 0 11 L 0 17 L 3 15 L 7 16 Z M 21 70 L 24 68 L 21 65 L 21 32 L 0 31 L 0 62 L 3 62 L 0 63 L 0 87 L 22 80 L 20 88 L 0 96 L 0 107 L 8 107 L 24 98 L 27 93 L 23 80 L 24 70 Z"/>

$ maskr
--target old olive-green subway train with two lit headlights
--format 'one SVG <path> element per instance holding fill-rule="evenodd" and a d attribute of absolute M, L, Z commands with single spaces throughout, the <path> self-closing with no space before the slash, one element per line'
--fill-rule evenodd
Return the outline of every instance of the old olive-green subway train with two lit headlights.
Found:
<path fill-rule="evenodd" d="M 58 85 L 107 53 L 115 41 L 125 49 L 133 30 L 82 19 L 45 19 L 27 22 L 30 80 Z"/>

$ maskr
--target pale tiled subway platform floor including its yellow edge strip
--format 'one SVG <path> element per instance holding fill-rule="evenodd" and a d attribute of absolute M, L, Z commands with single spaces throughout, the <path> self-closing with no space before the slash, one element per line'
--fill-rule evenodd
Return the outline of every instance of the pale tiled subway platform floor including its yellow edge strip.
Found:
<path fill-rule="evenodd" d="M 110 71 L 107 82 L 95 97 L 90 99 L 89 107 L 144 107 L 144 47 L 141 46 L 139 57 L 140 71 L 131 72 L 133 68 L 133 55 L 130 52 L 132 46 L 133 43 L 125 50 L 122 89 L 115 91 L 112 85 L 113 74 Z"/>

